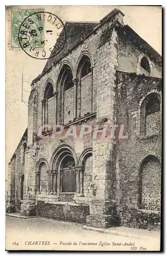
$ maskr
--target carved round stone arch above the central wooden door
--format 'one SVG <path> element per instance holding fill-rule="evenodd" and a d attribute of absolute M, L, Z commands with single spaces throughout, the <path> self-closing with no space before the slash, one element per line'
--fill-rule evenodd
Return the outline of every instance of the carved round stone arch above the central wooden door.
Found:
<path fill-rule="evenodd" d="M 75 165 L 78 165 L 77 155 L 75 150 L 69 146 L 68 144 L 60 145 L 56 148 L 55 152 L 53 153 L 50 161 L 50 169 L 54 169 L 57 166 L 58 161 L 62 157 L 63 154 L 69 154 L 74 157 Z"/>

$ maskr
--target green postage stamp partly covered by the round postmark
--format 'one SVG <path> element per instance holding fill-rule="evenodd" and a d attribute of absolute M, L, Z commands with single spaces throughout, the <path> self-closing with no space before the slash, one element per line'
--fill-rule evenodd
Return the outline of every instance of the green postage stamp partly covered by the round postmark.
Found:
<path fill-rule="evenodd" d="M 43 9 L 12 9 L 10 13 L 10 48 L 12 49 L 20 49 L 21 46 L 18 40 L 18 33 L 20 25 L 23 21 L 31 14 L 41 12 Z M 35 16 L 33 16 L 35 17 Z M 31 17 L 32 18 L 32 17 Z M 41 20 L 33 20 L 35 26 L 42 26 L 43 27 L 43 19 Z M 43 39 L 43 33 L 39 33 L 38 35 L 40 41 Z M 33 40 L 33 38 L 32 38 Z M 40 46 L 39 46 L 40 47 Z M 42 47 L 42 46 L 41 46 Z"/>

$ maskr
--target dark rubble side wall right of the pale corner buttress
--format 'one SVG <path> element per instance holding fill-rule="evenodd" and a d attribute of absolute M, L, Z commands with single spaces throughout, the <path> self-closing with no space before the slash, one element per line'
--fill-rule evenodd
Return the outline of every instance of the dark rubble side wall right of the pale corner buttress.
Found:
<path fill-rule="evenodd" d="M 161 81 L 157 78 L 137 76 L 135 74 L 127 74 L 125 72 L 117 72 L 116 83 L 117 122 L 119 124 L 125 124 L 125 130 L 128 132 L 128 139 L 120 139 L 116 143 L 116 179 L 114 186 L 116 188 L 115 193 L 117 211 L 122 219 L 122 225 L 140 227 L 142 226 L 141 222 L 145 218 L 146 223 L 143 226 L 145 226 L 145 228 L 151 226 L 152 228 L 154 228 L 154 222 L 150 218 L 150 212 L 145 212 L 141 214 L 142 218 L 139 218 L 139 214 L 137 214 L 138 209 L 140 208 L 139 174 L 141 163 L 146 157 L 155 156 L 157 161 L 160 161 L 161 131 L 159 130 L 159 134 L 157 135 L 150 134 L 149 137 L 140 137 L 139 124 L 141 121 L 141 101 L 149 93 L 155 92 L 161 95 Z M 161 113 L 159 115 L 161 116 Z M 156 182 L 157 178 L 158 180 L 160 180 L 159 172 L 160 167 L 157 172 L 156 168 L 150 167 L 149 173 L 145 173 L 146 177 L 148 177 L 148 180 L 150 177 L 150 181 L 152 181 L 153 183 L 152 185 L 151 183 L 149 183 L 150 192 L 147 190 L 148 196 L 150 196 L 150 198 L 152 198 L 154 192 L 157 193 L 160 190 L 160 181 L 158 181 L 158 184 Z M 145 188 L 143 189 L 149 189 L 149 186 L 148 184 L 146 184 L 146 182 L 144 181 Z M 155 188 L 155 183 L 157 184 L 157 188 Z M 143 186 L 144 184 L 142 185 L 142 187 Z M 153 194 L 151 189 L 154 190 Z M 157 194 L 157 197 L 159 198 L 159 193 Z M 158 198 L 155 199 L 155 201 L 158 201 L 156 202 L 157 204 L 159 204 Z M 151 200 L 152 199 L 150 199 L 150 202 Z M 149 209 L 159 209 L 159 207 L 156 208 L 153 201 L 151 205 L 149 205 Z M 146 201 L 146 204 L 147 203 L 148 201 Z M 158 212 L 154 212 L 154 216 L 156 214 L 156 218 L 158 219 Z M 136 217 L 135 215 L 137 215 L 138 217 Z M 159 219 L 158 221 L 155 221 L 155 226 L 158 222 Z"/>

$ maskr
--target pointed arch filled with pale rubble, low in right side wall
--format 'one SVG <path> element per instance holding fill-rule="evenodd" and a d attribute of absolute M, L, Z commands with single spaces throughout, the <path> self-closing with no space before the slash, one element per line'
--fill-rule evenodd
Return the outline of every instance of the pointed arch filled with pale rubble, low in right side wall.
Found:
<path fill-rule="evenodd" d="M 139 208 L 160 210 L 161 165 L 155 156 L 146 157 L 139 170 Z"/>

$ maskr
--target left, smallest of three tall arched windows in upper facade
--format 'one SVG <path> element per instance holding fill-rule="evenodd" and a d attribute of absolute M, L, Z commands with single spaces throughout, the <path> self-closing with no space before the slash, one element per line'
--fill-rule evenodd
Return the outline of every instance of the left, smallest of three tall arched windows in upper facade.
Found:
<path fill-rule="evenodd" d="M 42 124 L 51 124 L 54 121 L 52 115 L 54 100 L 51 99 L 54 96 L 53 92 L 53 84 L 48 82 L 44 91 L 44 99 L 42 101 Z"/>

